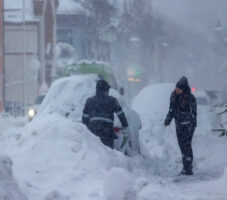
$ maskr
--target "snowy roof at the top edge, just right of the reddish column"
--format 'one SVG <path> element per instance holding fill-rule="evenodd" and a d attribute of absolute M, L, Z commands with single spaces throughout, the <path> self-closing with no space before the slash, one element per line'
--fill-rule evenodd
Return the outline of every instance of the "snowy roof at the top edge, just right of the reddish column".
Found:
<path fill-rule="evenodd" d="M 59 6 L 57 10 L 58 14 L 88 14 L 88 11 L 83 7 L 81 2 L 73 0 L 59 0 Z"/>

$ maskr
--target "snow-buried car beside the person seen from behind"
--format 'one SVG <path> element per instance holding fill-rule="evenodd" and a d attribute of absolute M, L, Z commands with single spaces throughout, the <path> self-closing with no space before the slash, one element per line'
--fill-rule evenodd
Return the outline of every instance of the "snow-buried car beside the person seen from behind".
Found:
<path fill-rule="evenodd" d="M 93 75 L 74 75 L 61 78 L 55 81 L 49 89 L 46 98 L 44 99 L 38 116 L 42 117 L 48 113 L 57 112 L 58 114 L 67 117 L 73 121 L 81 122 L 82 112 L 86 99 L 95 95 L 96 81 L 99 77 Z M 139 115 L 133 111 L 124 102 L 119 92 L 115 89 L 110 89 L 110 95 L 118 99 L 122 109 L 125 111 L 129 122 L 128 142 L 131 142 L 131 150 L 127 148 L 129 155 L 138 154 L 140 151 L 138 141 L 138 130 L 141 128 L 141 120 Z M 118 118 L 115 116 L 115 127 L 120 126 Z M 118 143 L 122 143 L 123 138 L 118 133 Z M 126 145 L 127 146 L 127 145 Z M 125 148 L 117 148 L 124 152 Z"/>

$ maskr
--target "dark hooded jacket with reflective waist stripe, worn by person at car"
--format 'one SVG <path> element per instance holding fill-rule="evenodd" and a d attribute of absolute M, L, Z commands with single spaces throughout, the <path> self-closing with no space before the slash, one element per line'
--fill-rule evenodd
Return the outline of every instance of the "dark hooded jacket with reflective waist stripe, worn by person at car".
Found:
<path fill-rule="evenodd" d="M 106 127 L 113 128 L 114 113 L 121 121 L 122 127 L 127 127 L 126 116 L 116 98 L 108 95 L 109 86 L 105 81 L 98 81 L 96 95 L 87 99 L 82 116 L 82 122 L 100 130 Z"/>

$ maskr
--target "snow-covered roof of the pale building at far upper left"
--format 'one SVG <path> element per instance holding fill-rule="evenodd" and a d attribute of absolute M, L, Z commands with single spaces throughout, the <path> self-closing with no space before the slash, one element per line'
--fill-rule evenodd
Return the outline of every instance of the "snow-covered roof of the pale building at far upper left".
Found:
<path fill-rule="evenodd" d="M 23 21 L 23 0 L 5 0 L 4 18 L 7 22 L 21 23 Z M 25 0 L 25 21 L 36 21 L 32 0 Z"/>

